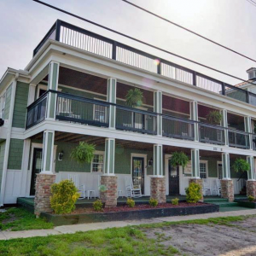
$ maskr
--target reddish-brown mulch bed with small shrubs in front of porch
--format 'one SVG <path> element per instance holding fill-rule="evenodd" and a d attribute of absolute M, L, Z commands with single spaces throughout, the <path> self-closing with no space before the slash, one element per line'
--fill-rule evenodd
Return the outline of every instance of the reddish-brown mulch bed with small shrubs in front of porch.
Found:
<path fill-rule="evenodd" d="M 131 211 L 139 211 L 146 209 L 161 209 L 161 208 L 177 208 L 177 207 L 201 207 L 207 206 L 206 203 L 188 203 L 188 202 L 180 202 L 177 206 L 172 205 L 171 203 L 159 204 L 157 207 L 151 207 L 149 205 L 136 205 L 135 207 L 128 206 L 120 206 L 120 207 L 109 207 L 103 208 L 102 212 L 131 212 Z M 79 213 L 93 213 L 96 212 L 93 208 L 78 208 L 70 214 L 79 214 Z"/>

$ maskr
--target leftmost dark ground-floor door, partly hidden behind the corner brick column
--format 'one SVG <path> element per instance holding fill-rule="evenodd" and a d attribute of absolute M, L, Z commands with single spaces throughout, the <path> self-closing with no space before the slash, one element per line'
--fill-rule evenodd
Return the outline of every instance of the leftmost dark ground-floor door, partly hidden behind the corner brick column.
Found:
<path fill-rule="evenodd" d="M 42 163 L 42 148 L 34 148 L 33 160 L 32 160 L 32 176 L 31 176 L 31 186 L 30 186 L 30 195 L 35 195 L 36 189 L 36 178 L 37 173 L 41 172 L 41 163 Z"/>

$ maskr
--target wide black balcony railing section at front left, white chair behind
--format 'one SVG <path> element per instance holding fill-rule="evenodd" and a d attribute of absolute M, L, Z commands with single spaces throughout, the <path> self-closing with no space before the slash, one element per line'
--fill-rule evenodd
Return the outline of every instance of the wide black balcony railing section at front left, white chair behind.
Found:
<path fill-rule="evenodd" d="M 108 127 L 109 103 L 57 92 L 56 119 Z"/>

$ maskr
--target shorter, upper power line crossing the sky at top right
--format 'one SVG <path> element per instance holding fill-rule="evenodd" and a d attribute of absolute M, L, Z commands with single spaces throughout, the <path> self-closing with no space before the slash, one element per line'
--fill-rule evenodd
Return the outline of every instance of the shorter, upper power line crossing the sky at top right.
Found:
<path fill-rule="evenodd" d="M 148 13 L 149 15 L 154 15 L 155 17 L 160 18 L 161 20 L 165 20 L 166 22 L 171 23 L 171 24 L 174 25 L 174 26 L 177 26 L 177 27 L 179 27 L 179 28 L 182 28 L 183 30 L 185 30 L 185 31 L 187 31 L 187 32 L 190 32 L 190 33 L 194 34 L 195 36 L 198 36 L 198 37 L 200 37 L 200 38 L 203 38 L 203 39 L 207 40 L 208 42 L 211 42 L 212 44 L 216 44 L 216 45 L 218 45 L 218 46 L 220 46 L 220 47 L 222 47 L 222 48 L 224 48 L 224 49 L 230 50 L 231 52 L 233 52 L 233 53 L 235 53 L 235 54 L 237 54 L 237 55 L 241 55 L 242 57 L 247 58 L 247 59 L 250 60 L 250 61 L 256 62 L 256 60 L 253 60 L 252 58 L 248 57 L 247 55 L 241 54 L 240 52 L 236 51 L 235 49 L 230 49 L 229 47 L 224 46 L 223 44 L 219 44 L 218 42 L 215 42 L 215 41 L 213 41 L 213 40 L 210 39 L 210 38 L 204 37 L 204 36 L 202 36 L 201 34 L 199 34 L 199 33 L 197 33 L 197 32 L 194 32 L 194 31 L 190 30 L 190 29 L 187 28 L 187 27 L 178 25 L 177 23 L 173 22 L 172 20 L 167 20 L 166 18 L 164 18 L 164 17 L 162 17 L 162 16 L 160 16 L 160 15 L 156 15 L 156 14 L 154 14 L 153 12 L 149 11 L 148 9 L 144 9 L 143 7 L 138 6 L 137 4 L 131 3 L 131 2 L 126 1 L 126 0 L 121 0 L 121 1 L 123 1 L 123 2 L 125 2 L 125 3 L 128 3 L 128 4 L 131 4 L 132 6 L 136 7 L 137 9 L 143 10 L 144 12 Z M 247 0 L 247 1 L 248 1 L 248 0 Z M 254 2 L 253 2 L 253 3 L 254 3 Z M 256 6 L 256 4 L 255 4 L 255 6 Z"/>

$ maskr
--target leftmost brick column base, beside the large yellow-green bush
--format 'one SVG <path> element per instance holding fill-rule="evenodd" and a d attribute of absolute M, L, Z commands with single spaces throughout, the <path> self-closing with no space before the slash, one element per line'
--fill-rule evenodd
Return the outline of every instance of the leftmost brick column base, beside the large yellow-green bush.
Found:
<path fill-rule="evenodd" d="M 55 174 L 38 173 L 36 179 L 36 195 L 34 211 L 37 216 L 41 212 L 52 212 L 49 203 L 50 186 L 55 183 Z"/>

